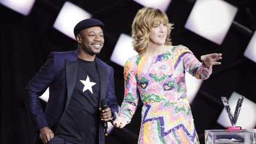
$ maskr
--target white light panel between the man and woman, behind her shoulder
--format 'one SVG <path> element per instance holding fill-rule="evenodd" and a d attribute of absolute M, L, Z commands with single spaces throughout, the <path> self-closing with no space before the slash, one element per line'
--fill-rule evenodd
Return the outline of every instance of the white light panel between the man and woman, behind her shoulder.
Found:
<path fill-rule="evenodd" d="M 120 66 L 124 66 L 129 57 L 138 55 L 138 53 L 133 50 L 132 41 L 132 37 L 126 34 L 120 34 L 110 60 Z"/>

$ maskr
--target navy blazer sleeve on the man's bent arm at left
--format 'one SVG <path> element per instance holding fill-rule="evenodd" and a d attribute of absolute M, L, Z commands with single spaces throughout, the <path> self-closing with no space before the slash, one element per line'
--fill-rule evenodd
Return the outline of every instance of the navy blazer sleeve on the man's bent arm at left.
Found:
<path fill-rule="evenodd" d="M 23 91 L 28 117 L 36 131 L 42 127 L 48 126 L 39 97 L 46 91 L 55 78 L 54 63 L 53 53 L 50 53 L 46 63 L 44 63 L 39 72 L 36 73 Z"/>

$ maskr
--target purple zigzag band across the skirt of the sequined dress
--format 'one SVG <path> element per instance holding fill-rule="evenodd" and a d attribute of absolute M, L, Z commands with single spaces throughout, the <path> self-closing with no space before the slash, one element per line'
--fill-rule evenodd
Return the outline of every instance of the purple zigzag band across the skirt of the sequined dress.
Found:
<path fill-rule="evenodd" d="M 187 134 L 188 137 L 191 137 L 191 140 L 194 141 L 194 138 L 196 137 L 196 129 L 194 129 L 193 135 L 191 135 L 188 130 L 184 127 L 183 124 L 179 124 L 178 126 L 173 127 L 172 129 L 168 130 L 167 132 L 165 132 L 164 129 L 164 117 L 154 117 L 152 119 L 146 119 L 146 115 L 148 114 L 149 109 L 151 108 L 151 105 L 145 104 L 145 106 L 147 107 L 145 115 L 143 117 L 142 123 L 146 123 L 148 121 L 153 121 L 153 120 L 160 120 L 160 125 L 161 125 L 161 135 L 162 137 L 168 135 L 171 132 L 175 132 L 178 129 L 183 129 L 184 132 Z"/>

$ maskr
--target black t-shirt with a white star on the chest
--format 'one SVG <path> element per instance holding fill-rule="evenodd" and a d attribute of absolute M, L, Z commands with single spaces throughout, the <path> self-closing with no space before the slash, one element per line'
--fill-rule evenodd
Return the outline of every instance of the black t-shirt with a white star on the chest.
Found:
<path fill-rule="evenodd" d="M 78 59 L 76 84 L 56 135 L 73 143 L 98 143 L 100 78 L 95 60 Z"/>

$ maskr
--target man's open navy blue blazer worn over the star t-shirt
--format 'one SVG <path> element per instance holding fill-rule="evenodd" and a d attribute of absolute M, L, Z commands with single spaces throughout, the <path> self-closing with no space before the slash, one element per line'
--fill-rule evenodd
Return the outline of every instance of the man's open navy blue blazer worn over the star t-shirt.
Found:
<path fill-rule="evenodd" d="M 69 52 L 52 52 L 40 71 L 25 87 L 23 96 L 34 130 L 49 126 L 55 133 L 63 113 L 68 107 L 73 88 L 75 87 L 78 50 Z M 95 57 L 100 76 L 100 98 L 106 99 L 111 111 L 118 113 L 118 105 L 114 91 L 113 68 Z M 49 100 L 43 111 L 39 96 L 49 87 Z M 100 124 L 99 142 L 104 143 L 103 123 Z"/>

